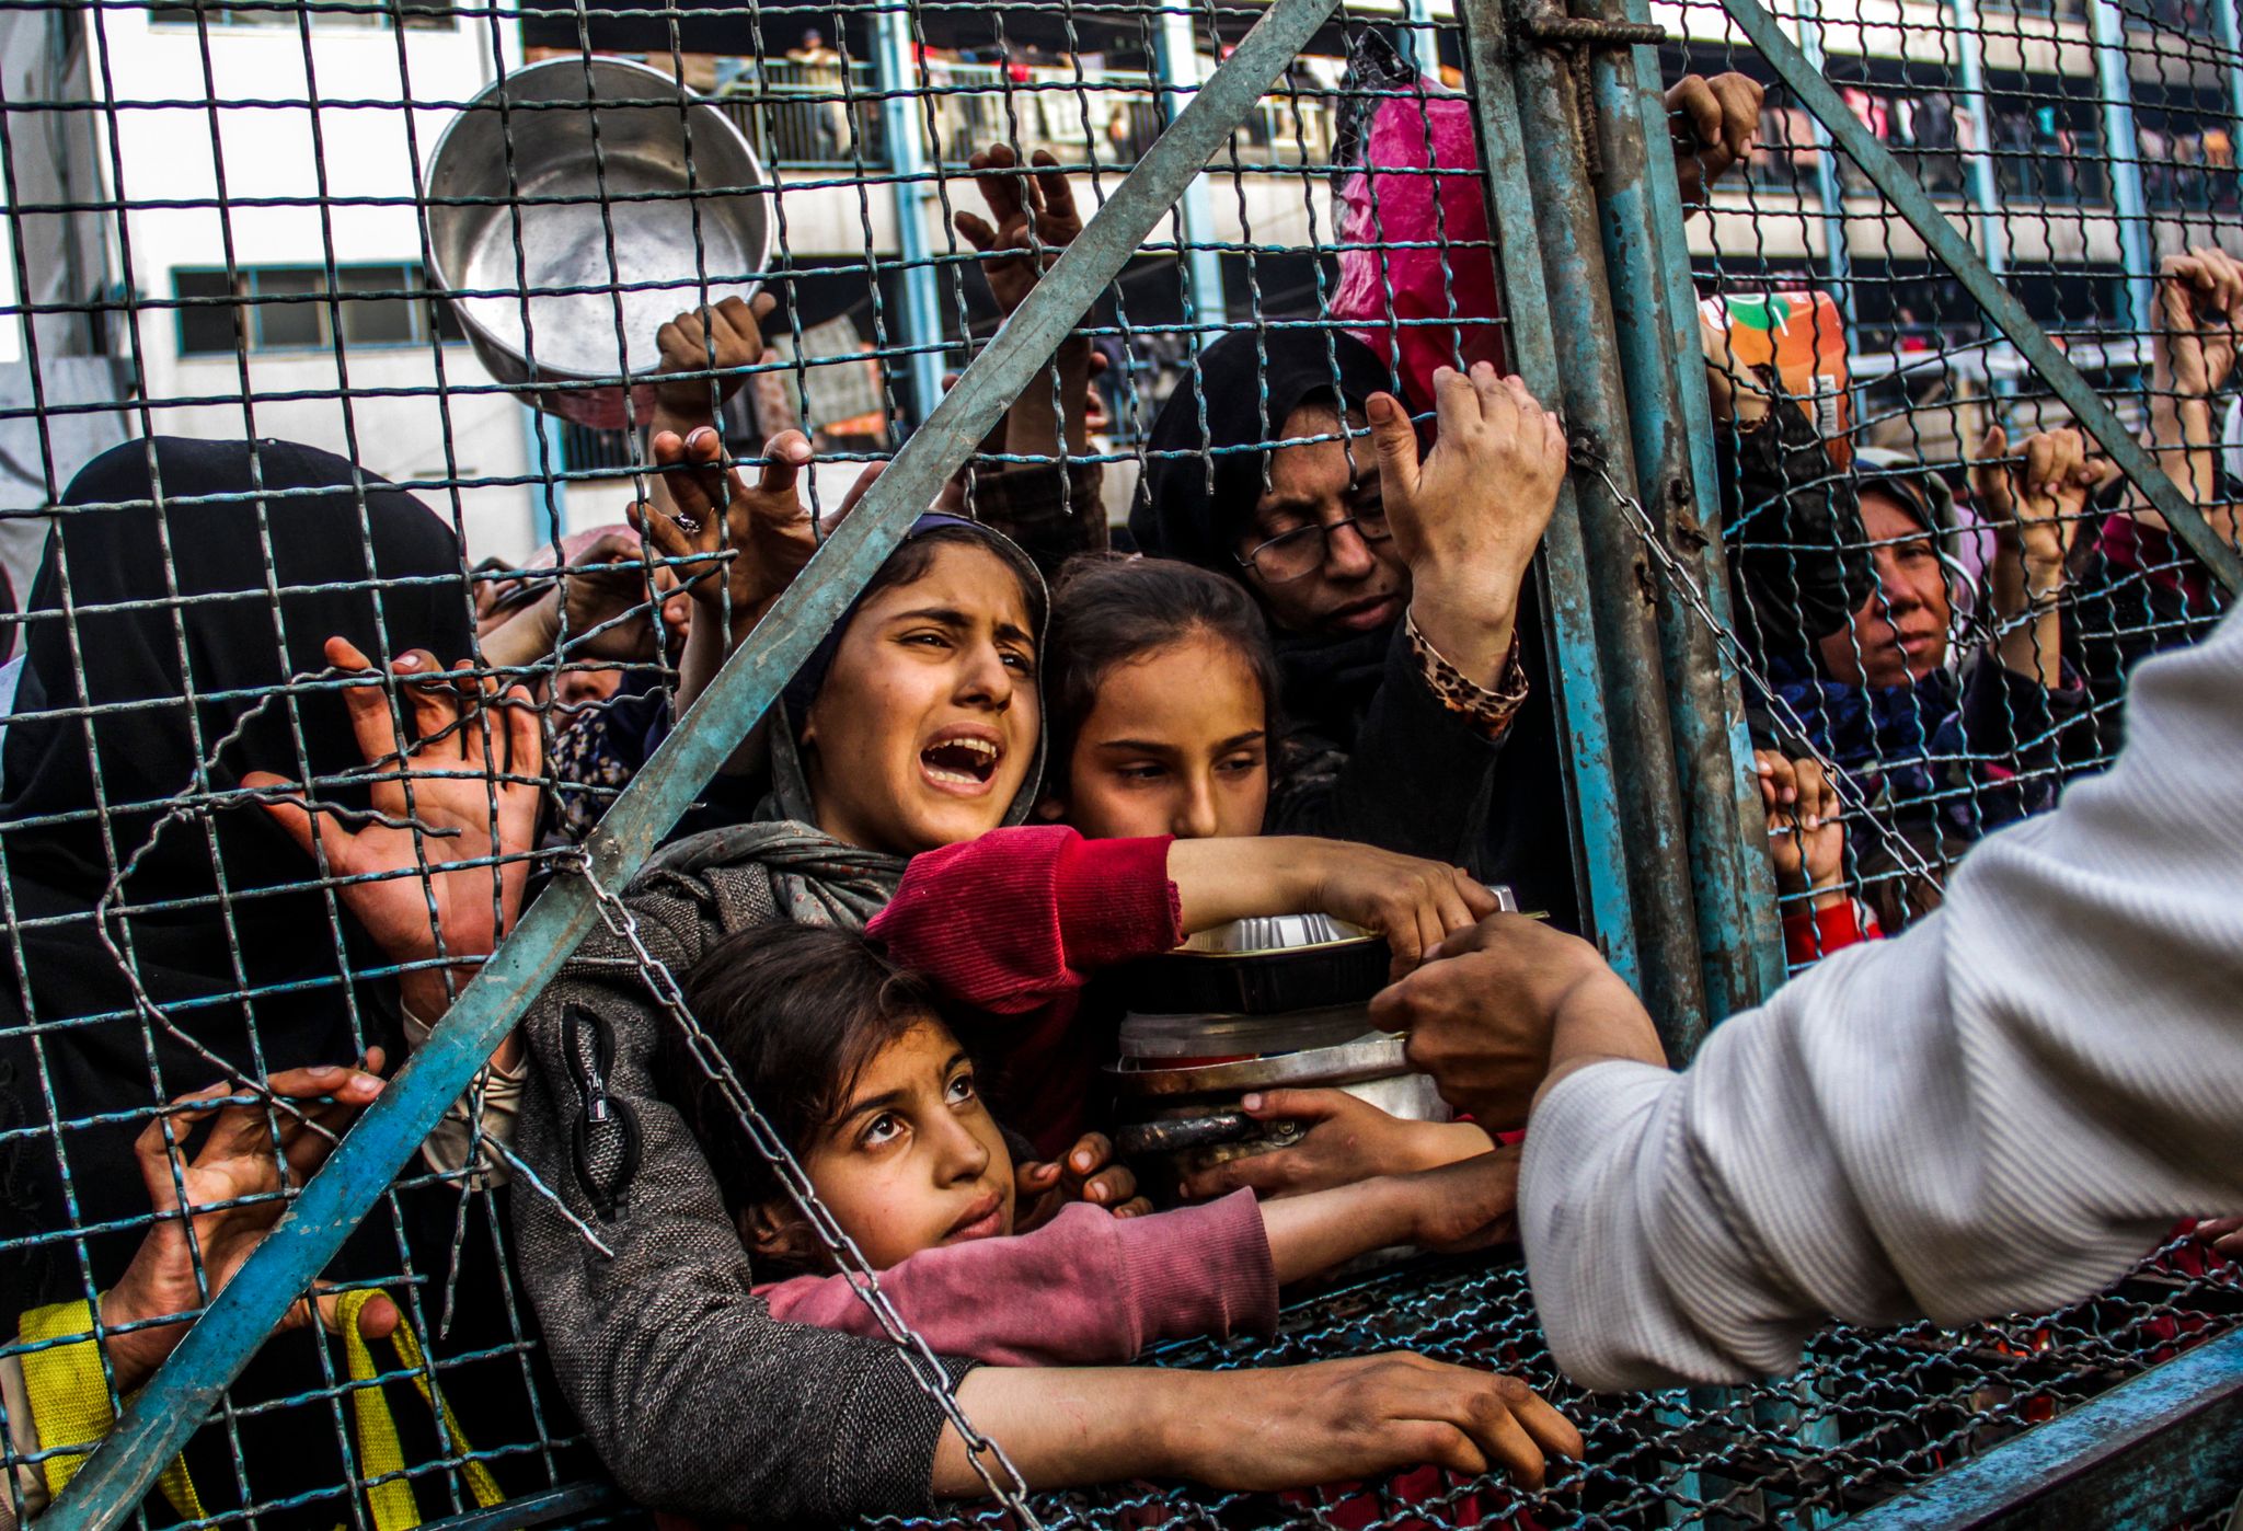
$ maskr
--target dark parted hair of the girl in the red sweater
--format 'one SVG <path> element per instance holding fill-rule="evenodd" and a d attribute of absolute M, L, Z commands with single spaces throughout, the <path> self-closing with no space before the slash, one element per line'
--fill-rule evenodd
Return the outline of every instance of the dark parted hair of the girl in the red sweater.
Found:
<path fill-rule="evenodd" d="M 1263 688 L 1263 729 L 1279 744 L 1279 675 L 1270 623 L 1245 585 L 1175 558 L 1083 554 L 1059 572 L 1043 646 L 1050 780 L 1068 780 L 1074 737 L 1115 666 L 1207 634 L 1231 646 Z"/>

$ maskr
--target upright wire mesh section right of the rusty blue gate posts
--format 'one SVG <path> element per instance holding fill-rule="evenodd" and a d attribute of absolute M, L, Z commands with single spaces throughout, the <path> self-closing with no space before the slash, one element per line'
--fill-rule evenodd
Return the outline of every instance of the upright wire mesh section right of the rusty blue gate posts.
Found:
<path fill-rule="evenodd" d="M 1671 61 L 1774 78 L 1720 7 L 1667 13 Z M 1783 25 L 2232 540 L 2232 9 L 1990 4 L 1889 25 L 1797 7 Z M 2019 542 L 1990 495 L 2070 412 L 1783 85 L 1747 175 L 1709 202 L 1691 235 L 1709 352 L 1747 390 L 1783 352 L 1783 390 L 1833 442 L 1727 507 L 1761 599 L 1788 607 L 1759 650 L 1859 787 L 1828 885 L 1898 930 L 1978 836 L 2111 760 L 2133 664 L 2200 637 L 2225 596 L 2093 442 L 2093 482 L 2021 500 L 2066 536 Z M 1743 457 L 1759 408 L 1747 395 L 1725 426 Z M 1799 621 L 1817 590 L 1855 614 Z"/>

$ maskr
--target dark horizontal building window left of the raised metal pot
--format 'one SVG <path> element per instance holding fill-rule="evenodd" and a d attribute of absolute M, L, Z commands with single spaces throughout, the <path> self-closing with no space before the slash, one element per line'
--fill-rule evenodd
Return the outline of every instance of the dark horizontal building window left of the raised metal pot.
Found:
<path fill-rule="evenodd" d="M 464 338 L 449 303 L 406 296 L 428 285 L 417 262 L 336 267 L 334 276 L 330 291 L 323 267 L 244 267 L 233 276 L 173 271 L 170 289 L 179 298 L 179 354 L 332 350 L 336 318 L 343 327 L 341 343 L 348 347 L 426 345 L 431 336 Z M 197 303 L 197 298 L 222 298 L 222 303 Z"/>

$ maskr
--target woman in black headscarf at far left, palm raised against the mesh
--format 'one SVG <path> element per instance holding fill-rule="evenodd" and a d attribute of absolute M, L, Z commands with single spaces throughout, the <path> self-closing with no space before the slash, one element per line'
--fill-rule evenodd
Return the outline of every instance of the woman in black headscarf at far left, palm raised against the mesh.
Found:
<path fill-rule="evenodd" d="M 350 818 L 395 811 L 401 791 L 399 767 L 368 771 L 399 737 L 363 675 L 368 657 L 435 677 L 437 657 L 467 657 L 469 623 L 451 529 L 330 453 L 157 437 L 96 457 L 70 484 L 31 592 L 4 744 L 0 1334 L 25 1309 L 117 1282 L 150 1226 L 135 1139 L 166 1101 L 229 1076 L 352 1065 L 377 1047 L 404 1058 L 401 989 L 419 991 L 426 1020 L 444 1009 L 442 968 L 397 977 L 399 964 L 437 955 L 431 899 L 444 955 L 489 953 L 525 867 L 444 863 L 489 856 L 502 834 L 525 850 L 536 789 L 496 787 L 505 823 L 491 825 L 471 726 L 442 746 L 440 767 L 458 776 L 415 782 L 419 816 L 460 829 L 422 841 L 424 876 L 330 881 L 415 867 L 408 829 Z M 415 699 L 424 735 L 431 706 L 460 717 L 453 702 Z M 493 733 L 527 751 L 511 764 L 534 776 L 534 724 L 516 717 Z M 404 769 L 422 762 L 410 751 Z M 294 782 L 341 811 L 321 816 L 325 870 L 303 850 L 312 827 L 289 805 Z M 473 809 L 451 823 L 464 796 Z M 453 1340 L 471 1338 L 480 1307 L 496 1316 L 496 1251 L 469 1242 L 453 1271 L 455 1208 L 444 1188 L 399 1195 L 406 1246 L 388 1217 L 375 1219 L 330 1273 L 410 1269 L 431 1302 L 451 1273 Z M 435 1311 L 417 1298 L 406 1307 L 424 1327 Z M 312 1345 L 307 1334 L 267 1343 L 233 1399 L 319 1388 Z M 476 1372 L 511 1374 L 518 1408 L 518 1365 Z M 446 1388 L 476 1392 L 458 1372 Z M 473 1432 L 473 1408 L 467 1419 Z M 301 1513 L 332 1524 L 350 1493 L 336 1448 L 332 1410 L 310 1403 L 204 1432 L 188 1462 L 202 1462 L 206 1495 L 229 1484 L 247 1484 L 249 1502 L 312 1493 Z"/>

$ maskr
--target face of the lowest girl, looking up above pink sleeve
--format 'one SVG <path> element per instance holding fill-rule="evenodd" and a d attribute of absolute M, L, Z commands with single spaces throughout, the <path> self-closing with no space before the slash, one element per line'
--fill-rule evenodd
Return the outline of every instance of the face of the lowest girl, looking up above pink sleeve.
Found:
<path fill-rule="evenodd" d="M 938 1020 L 866 1065 L 803 1170 L 875 1271 L 938 1244 L 1012 1233 L 1012 1154 L 973 1089 L 964 1047 Z"/>

